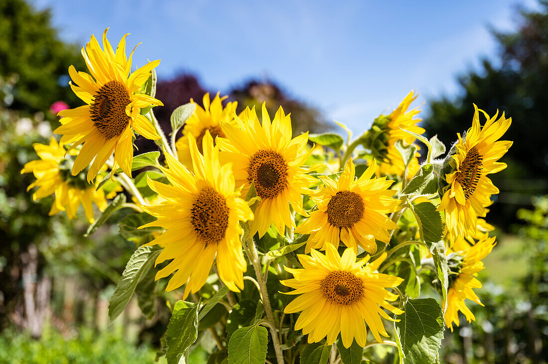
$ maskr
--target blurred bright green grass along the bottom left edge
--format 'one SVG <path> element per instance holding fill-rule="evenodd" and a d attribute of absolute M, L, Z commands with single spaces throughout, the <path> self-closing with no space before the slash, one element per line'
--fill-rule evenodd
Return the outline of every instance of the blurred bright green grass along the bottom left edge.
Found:
<path fill-rule="evenodd" d="M 0 363 L 150 363 L 155 355 L 149 346 L 128 343 L 121 330 L 97 333 L 82 327 L 77 336 L 66 339 L 55 328 L 45 327 L 39 341 L 15 330 L 0 336 Z"/>

